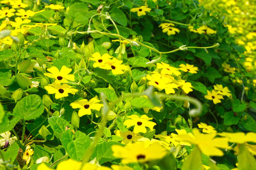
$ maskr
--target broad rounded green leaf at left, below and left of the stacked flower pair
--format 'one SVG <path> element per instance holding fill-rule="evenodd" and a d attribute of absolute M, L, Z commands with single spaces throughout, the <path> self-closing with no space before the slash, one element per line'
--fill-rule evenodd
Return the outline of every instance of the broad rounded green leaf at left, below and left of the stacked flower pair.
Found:
<path fill-rule="evenodd" d="M 44 104 L 40 96 L 31 94 L 22 98 L 15 106 L 13 115 L 24 120 L 31 120 L 44 113 Z"/>

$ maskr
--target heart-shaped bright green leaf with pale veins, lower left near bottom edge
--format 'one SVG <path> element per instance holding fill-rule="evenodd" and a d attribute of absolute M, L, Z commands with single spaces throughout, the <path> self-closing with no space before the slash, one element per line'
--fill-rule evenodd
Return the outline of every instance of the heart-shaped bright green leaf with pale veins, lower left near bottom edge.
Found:
<path fill-rule="evenodd" d="M 81 131 L 76 131 L 75 134 L 70 130 L 65 131 L 60 139 L 68 156 L 74 160 L 81 160 L 84 152 L 90 145 L 90 138 Z"/>

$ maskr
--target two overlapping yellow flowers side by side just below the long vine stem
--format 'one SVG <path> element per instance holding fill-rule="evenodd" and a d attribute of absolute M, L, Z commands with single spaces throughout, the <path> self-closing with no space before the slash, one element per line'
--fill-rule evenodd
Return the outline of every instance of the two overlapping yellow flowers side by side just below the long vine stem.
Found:
<path fill-rule="evenodd" d="M 122 60 L 118 60 L 115 57 L 110 56 L 108 53 L 100 55 L 99 52 L 95 52 L 92 54 L 90 60 L 95 61 L 93 63 L 93 67 L 111 70 L 114 75 L 124 74 L 124 71 L 128 70 L 128 66 L 122 64 Z"/>

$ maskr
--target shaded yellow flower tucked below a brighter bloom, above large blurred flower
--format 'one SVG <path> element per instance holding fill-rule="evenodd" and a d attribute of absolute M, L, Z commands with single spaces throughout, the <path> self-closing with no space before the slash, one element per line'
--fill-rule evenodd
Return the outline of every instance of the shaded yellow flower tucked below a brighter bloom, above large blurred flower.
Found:
<path fill-rule="evenodd" d="M 122 143 L 124 143 L 125 145 L 127 145 L 128 143 L 137 142 L 138 139 L 142 138 L 142 136 L 135 134 L 131 131 L 121 132 L 119 130 L 116 130 L 115 134 L 116 136 L 120 136 L 121 138 L 123 138 Z"/>

